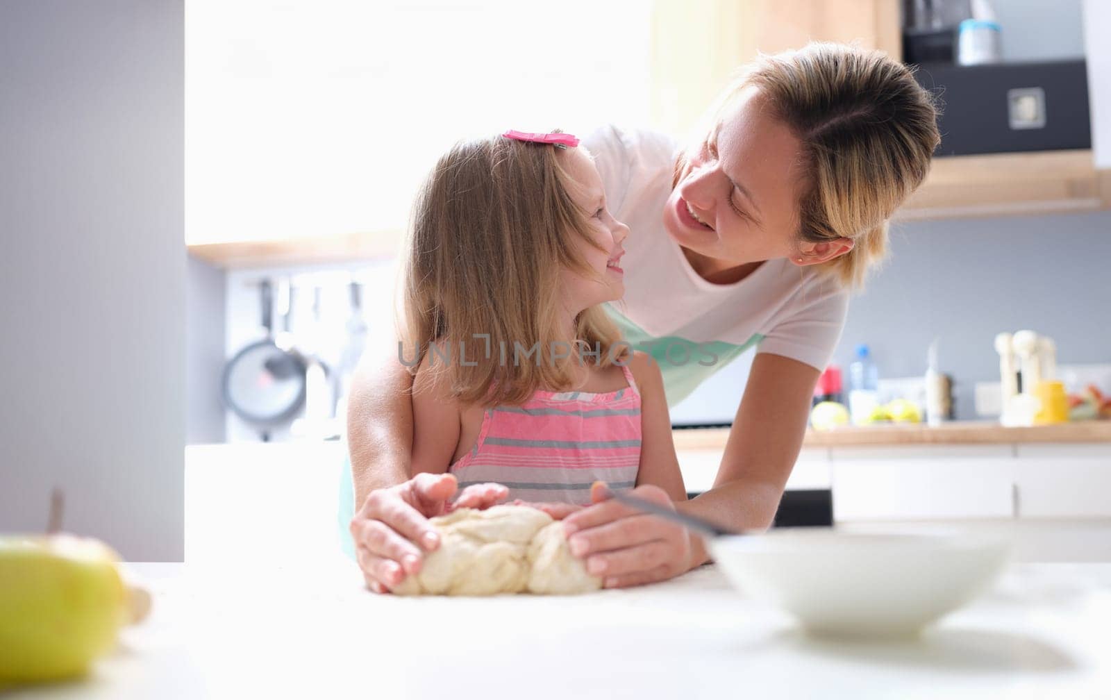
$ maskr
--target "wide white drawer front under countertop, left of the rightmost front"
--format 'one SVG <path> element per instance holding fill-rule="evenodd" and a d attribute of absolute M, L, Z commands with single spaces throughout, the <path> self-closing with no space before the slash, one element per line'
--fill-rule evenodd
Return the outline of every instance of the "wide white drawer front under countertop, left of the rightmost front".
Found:
<path fill-rule="evenodd" d="M 1013 514 L 1010 446 L 834 449 L 831 464 L 837 522 Z"/>

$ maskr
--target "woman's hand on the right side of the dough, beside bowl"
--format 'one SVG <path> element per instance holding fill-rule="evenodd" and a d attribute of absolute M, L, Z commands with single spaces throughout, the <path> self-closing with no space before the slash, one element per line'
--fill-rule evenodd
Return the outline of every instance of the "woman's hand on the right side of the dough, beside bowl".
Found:
<path fill-rule="evenodd" d="M 641 486 L 632 493 L 674 508 L 659 487 Z M 587 571 L 602 577 L 605 588 L 662 581 L 690 568 L 685 528 L 605 500 L 604 484 L 594 484 L 590 497 L 594 504 L 563 518 L 563 529 L 571 553 L 585 559 Z"/>

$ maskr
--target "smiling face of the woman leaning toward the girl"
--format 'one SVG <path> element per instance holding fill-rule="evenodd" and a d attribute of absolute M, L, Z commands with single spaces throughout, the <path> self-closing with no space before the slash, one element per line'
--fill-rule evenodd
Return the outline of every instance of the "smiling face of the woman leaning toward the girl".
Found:
<path fill-rule="evenodd" d="M 663 212 L 683 248 L 727 267 L 798 252 L 799 139 L 744 89 L 717 136 L 688 153 Z"/>

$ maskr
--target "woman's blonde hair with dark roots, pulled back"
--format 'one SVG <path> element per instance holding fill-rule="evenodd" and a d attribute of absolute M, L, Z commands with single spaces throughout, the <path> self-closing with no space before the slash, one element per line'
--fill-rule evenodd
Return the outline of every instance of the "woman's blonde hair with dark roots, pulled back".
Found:
<path fill-rule="evenodd" d="M 852 239 L 851 251 L 821 269 L 861 287 L 887 254 L 888 220 L 930 169 L 941 140 L 933 99 L 880 51 L 814 42 L 745 66 L 711 112 L 708 139 L 748 87 L 801 142 L 799 241 Z M 677 181 L 685 171 L 681 157 Z"/>

